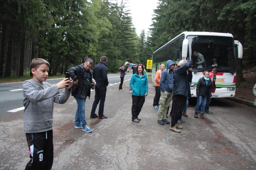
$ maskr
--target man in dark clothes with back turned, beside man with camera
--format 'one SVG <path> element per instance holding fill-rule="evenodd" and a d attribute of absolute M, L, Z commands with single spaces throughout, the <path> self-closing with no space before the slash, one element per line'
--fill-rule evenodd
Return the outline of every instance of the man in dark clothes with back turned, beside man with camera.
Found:
<path fill-rule="evenodd" d="M 97 85 L 95 87 L 95 97 L 93 107 L 91 111 L 91 118 L 105 119 L 107 116 L 103 115 L 104 103 L 106 98 L 107 86 L 108 86 L 108 67 L 106 63 L 108 59 L 106 56 L 100 58 L 100 63 L 97 64 L 93 69 L 93 79 L 95 79 Z M 99 103 L 100 102 L 100 103 Z M 95 114 L 95 110 L 99 103 L 99 116 Z"/>

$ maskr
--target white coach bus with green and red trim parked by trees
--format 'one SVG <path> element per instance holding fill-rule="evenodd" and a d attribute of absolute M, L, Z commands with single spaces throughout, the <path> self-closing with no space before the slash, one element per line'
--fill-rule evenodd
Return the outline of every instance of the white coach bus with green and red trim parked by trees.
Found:
<path fill-rule="evenodd" d="M 205 70 L 212 71 L 214 67 L 219 72 L 216 76 L 216 91 L 212 97 L 234 97 L 236 93 L 236 50 L 237 56 L 242 58 L 242 44 L 234 40 L 232 34 L 217 32 L 182 32 L 168 43 L 153 52 L 152 81 L 155 82 L 155 73 L 160 64 L 166 64 L 167 60 L 179 61 L 192 59 L 192 82 L 191 97 L 197 97 L 196 87 L 198 80 L 203 77 Z M 197 51 L 204 56 L 202 68 L 197 68 Z M 216 60 L 216 63 L 213 63 Z"/>

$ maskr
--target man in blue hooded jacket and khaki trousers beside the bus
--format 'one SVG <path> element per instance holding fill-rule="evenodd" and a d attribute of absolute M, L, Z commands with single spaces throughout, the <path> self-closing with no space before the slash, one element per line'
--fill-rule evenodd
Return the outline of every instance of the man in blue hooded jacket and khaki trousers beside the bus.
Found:
<path fill-rule="evenodd" d="M 174 62 L 172 60 L 168 60 L 166 62 L 166 69 L 162 71 L 160 79 L 161 97 L 160 107 L 157 111 L 157 122 L 161 125 L 170 124 L 166 119 L 166 112 L 172 101 L 173 68 Z"/>

